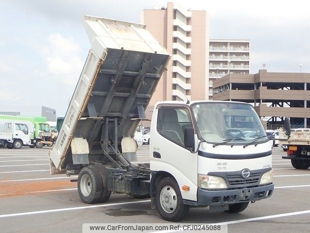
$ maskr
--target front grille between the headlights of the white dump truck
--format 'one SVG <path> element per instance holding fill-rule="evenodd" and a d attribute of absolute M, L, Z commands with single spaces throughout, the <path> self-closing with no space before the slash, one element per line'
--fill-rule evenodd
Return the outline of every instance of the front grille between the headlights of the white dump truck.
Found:
<path fill-rule="evenodd" d="M 246 179 L 241 176 L 241 172 L 227 172 L 226 175 L 230 188 L 239 189 L 258 186 L 261 172 L 253 172 Z"/>

